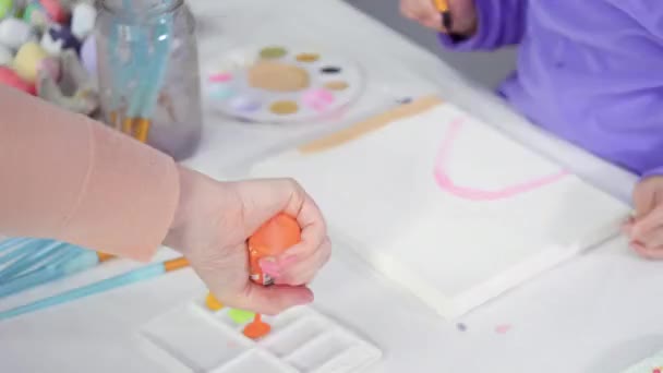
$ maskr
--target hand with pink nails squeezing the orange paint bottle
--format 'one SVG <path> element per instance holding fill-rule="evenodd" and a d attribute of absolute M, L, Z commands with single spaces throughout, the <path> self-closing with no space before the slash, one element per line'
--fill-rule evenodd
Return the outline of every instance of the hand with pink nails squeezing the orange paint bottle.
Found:
<path fill-rule="evenodd" d="M 305 285 L 327 262 L 332 245 L 323 216 L 291 180 L 218 182 L 180 168 L 180 206 L 166 244 L 181 251 L 208 289 L 225 304 L 276 314 L 310 303 Z M 285 213 L 302 228 L 301 242 L 270 268 L 276 286 L 249 278 L 246 239 L 265 221 Z"/>

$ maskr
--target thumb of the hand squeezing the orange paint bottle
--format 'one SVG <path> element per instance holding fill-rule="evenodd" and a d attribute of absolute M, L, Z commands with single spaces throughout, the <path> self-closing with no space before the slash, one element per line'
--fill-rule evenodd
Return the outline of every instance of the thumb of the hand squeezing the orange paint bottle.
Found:
<path fill-rule="evenodd" d="M 250 284 L 245 297 L 233 302 L 234 306 L 266 315 L 276 315 L 289 308 L 313 302 L 311 289 L 301 286 L 264 287 Z"/>

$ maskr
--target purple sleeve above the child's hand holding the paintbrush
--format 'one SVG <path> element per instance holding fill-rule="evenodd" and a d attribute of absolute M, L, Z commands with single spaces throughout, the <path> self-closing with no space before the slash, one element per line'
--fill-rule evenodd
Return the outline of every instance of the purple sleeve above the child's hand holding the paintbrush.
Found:
<path fill-rule="evenodd" d="M 467 39 L 439 34 L 442 45 L 458 51 L 492 50 L 520 43 L 529 0 L 474 0 L 477 33 Z"/>

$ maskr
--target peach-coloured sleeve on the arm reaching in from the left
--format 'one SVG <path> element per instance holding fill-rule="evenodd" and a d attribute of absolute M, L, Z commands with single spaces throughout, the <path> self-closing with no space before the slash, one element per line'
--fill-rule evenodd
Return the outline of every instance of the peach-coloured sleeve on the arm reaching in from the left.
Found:
<path fill-rule="evenodd" d="M 0 85 L 0 232 L 147 261 L 179 201 L 174 161 Z"/>

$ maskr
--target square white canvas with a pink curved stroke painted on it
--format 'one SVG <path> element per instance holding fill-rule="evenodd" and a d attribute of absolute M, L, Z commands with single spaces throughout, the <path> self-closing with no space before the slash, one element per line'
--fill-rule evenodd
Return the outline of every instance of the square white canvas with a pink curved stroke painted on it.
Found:
<path fill-rule="evenodd" d="M 628 207 L 562 172 L 444 104 L 320 153 L 285 152 L 251 176 L 297 179 L 359 255 L 454 317 L 617 232 Z"/>

